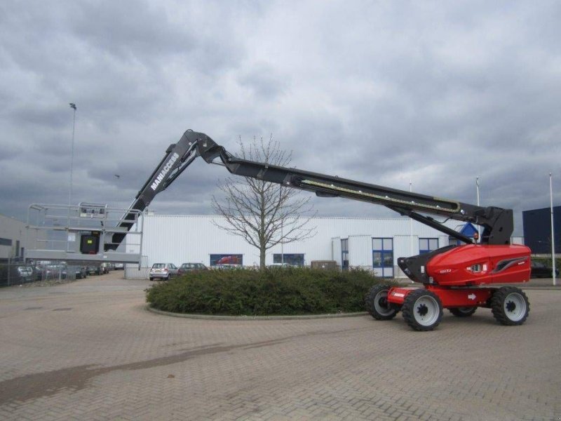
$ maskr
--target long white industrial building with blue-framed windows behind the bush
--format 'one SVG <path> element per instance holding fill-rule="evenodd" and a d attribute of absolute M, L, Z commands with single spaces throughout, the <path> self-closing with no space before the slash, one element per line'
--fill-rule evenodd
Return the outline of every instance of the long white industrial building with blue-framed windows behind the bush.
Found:
<path fill-rule="evenodd" d="M 431 227 L 409 218 L 312 218 L 316 234 L 295 243 L 278 244 L 266 254 L 266 265 L 285 262 L 310 265 L 313 260 L 335 260 L 342 268 L 370 269 L 378 276 L 404 276 L 397 259 L 435 250 L 456 239 L 449 239 Z M 142 269 L 156 262 L 202 262 L 207 266 L 259 265 L 259 250 L 241 236 L 220 228 L 224 218 L 217 215 L 154 215 L 143 217 L 142 240 L 127 239 L 127 252 L 138 253 L 142 241 Z M 477 229 L 471 224 L 446 222 L 466 236 Z M 523 239 L 513 239 L 522 243 Z M 127 274 L 135 277 L 134 265 Z M 139 274 L 140 275 L 140 274 Z"/>

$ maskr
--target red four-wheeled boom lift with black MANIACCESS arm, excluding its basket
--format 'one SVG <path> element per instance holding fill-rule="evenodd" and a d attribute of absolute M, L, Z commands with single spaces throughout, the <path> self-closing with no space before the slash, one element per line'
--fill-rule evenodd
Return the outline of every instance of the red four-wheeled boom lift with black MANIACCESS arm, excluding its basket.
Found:
<path fill-rule="evenodd" d="M 207 163 L 225 166 L 235 175 L 274 182 L 284 187 L 307 190 L 322 197 L 344 197 L 386 206 L 400 215 L 438 229 L 466 243 L 447 246 L 431 253 L 399 258 L 398 266 L 422 288 L 375 286 L 365 300 L 368 312 L 377 320 L 393 319 L 398 312 L 414 330 L 433 330 L 442 319 L 442 309 L 454 316 L 471 316 L 478 307 L 492 309 L 503 325 L 520 325 L 529 314 L 529 302 L 520 288 L 488 286 L 496 283 L 527 282 L 530 278 L 530 250 L 511 245 L 513 212 L 494 206 L 481 207 L 434 196 L 391 189 L 332 175 L 312 173 L 239 159 L 204 133 L 188 130 L 165 156 L 140 189 L 128 213 L 121 218 L 105 250 L 114 250 L 133 227 L 133 212 L 142 212 L 154 196 L 167 188 L 198 156 Z M 428 215 L 436 215 L 483 228 L 479 243 L 446 227 Z"/>

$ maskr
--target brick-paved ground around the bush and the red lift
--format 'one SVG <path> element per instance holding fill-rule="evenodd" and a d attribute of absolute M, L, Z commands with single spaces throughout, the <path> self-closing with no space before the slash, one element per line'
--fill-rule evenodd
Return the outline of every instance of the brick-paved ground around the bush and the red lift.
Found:
<path fill-rule="evenodd" d="M 417 333 L 401 316 L 161 316 L 149 281 L 120 276 L 0 289 L 0 420 L 561 417 L 561 288 L 528 288 L 523 326 L 479 309 Z"/>

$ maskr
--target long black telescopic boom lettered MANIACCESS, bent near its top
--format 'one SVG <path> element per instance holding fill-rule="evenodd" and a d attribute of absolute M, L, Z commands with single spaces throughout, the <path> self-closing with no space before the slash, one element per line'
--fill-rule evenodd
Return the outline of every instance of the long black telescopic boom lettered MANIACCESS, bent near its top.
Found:
<path fill-rule="evenodd" d="M 235 175 L 275 182 L 285 187 L 314 192 L 322 197 L 344 197 L 386 206 L 466 243 L 471 243 L 472 240 L 420 213 L 480 225 L 484 228 L 481 243 L 485 244 L 510 243 L 514 229 L 513 212 L 510 209 L 482 208 L 469 203 L 346 180 L 333 175 L 239 159 L 204 133 L 191 130 L 186 131 L 175 145 L 168 147 L 165 156 L 144 183 L 129 209 L 144 210 L 154 196 L 166 189 L 197 156 L 201 156 L 207 163 L 217 163 L 215 160 L 219 158 L 228 171 Z M 133 220 L 133 213 L 126 213 L 119 226 L 130 230 L 133 227 L 133 222 L 130 221 Z M 114 234 L 106 248 L 114 250 L 125 235 L 126 233 Z"/>

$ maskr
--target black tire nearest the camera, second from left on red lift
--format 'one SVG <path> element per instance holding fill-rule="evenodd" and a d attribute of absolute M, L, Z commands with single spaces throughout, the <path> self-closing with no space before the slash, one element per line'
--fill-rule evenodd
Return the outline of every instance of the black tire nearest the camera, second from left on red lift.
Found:
<path fill-rule="evenodd" d="M 412 290 L 401 307 L 403 319 L 413 330 L 433 330 L 442 320 L 442 302 L 435 293 L 424 289 Z"/>

